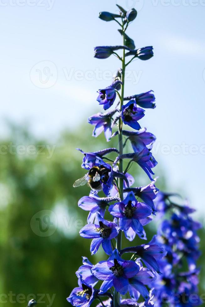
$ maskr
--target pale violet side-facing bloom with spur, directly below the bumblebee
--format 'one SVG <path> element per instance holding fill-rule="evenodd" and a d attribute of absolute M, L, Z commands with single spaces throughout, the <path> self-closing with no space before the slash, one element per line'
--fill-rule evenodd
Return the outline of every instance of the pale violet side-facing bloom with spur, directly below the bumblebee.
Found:
<path fill-rule="evenodd" d="M 97 213 L 104 217 L 106 206 L 109 206 L 109 203 L 114 200 L 120 201 L 118 197 L 99 197 L 91 192 L 89 196 L 83 196 L 78 201 L 78 206 L 83 210 L 90 211 L 87 222 L 88 224 L 92 224 Z"/>

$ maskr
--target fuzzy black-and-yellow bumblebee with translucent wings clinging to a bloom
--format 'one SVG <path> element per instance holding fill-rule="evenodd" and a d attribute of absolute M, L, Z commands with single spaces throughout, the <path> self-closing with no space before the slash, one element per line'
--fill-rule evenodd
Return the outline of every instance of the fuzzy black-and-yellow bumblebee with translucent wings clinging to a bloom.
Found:
<path fill-rule="evenodd" d="M 102 184 L 108 181 L 108 173 L 109 169 L 104 165 L 93 166 L 85 176 L 74 182 L 73 187 L 76 188 L 88 183 L 93 191 L 101 191 Z"/>

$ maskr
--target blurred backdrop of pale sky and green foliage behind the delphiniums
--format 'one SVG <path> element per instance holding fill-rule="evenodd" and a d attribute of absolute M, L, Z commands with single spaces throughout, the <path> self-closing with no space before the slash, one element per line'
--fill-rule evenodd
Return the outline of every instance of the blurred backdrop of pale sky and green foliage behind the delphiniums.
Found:
<path fill-rule="evenodd" d="M 204 223 L 205 2 L 202 0 L 0 0 L 0 304 L 67 306 L 81 255 L 94 263 L 78 232 L 87 212 L 77 201 L 87 186 L 81 153 L 108 146 L 92 138 L 87 117 L 102 111 L 99 88 L 112 82 L 118 60 L 93 58 L 97 45 L 121 44 L 114 22 L 100 11 L 115 4 L 138 10 L 128 35 L 137 48 L 154 46 L 149 61 L 128 67 L 125 95 L 154 90 L 157 107 L 141 126 L 154 133 L 157 187 L 180 192 Z M 136 185 L 148 184 L 133 167 Z M 154 226 L 153 226 L 154 225 Z M 156 230 L 147 228 L 148 239 Z M 200 231 L 201 250 L 204 228 Z M 200 292 L 205 290 L 202 261 Z"/>

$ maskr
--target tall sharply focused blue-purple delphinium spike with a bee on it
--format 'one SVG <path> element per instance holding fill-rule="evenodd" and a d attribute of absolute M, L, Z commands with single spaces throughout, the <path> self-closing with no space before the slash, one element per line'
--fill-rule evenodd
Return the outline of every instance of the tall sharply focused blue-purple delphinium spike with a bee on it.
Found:
<path fill-rule="evenodd" d="M 105 253 L 103 260 L 95 265 L 83 258 L 83 265 L 76 272 L 78 287 L 68 298 L 74 306 L 87 307 L 95 299 L 103 307 L 124 304 L 153 306 L 153 284 L 158 274 L 162 273 L 160 261 L 166 256 L 165 249 L 156 242 L 155 237 L 146 243 L 144 229 L 156 212 L 153 200 L 158 189 L 152 169 L 157 162 L 151 153 L 156 138 L 145 128 L 141 129 L 139 122 L 145 116 L 144 108 L 155 108 L 155 96 L 153 91 L 124 95 L 126 67 L 137 58 L 150 59 L 153 47 L 135 49 L 134 40 L 125 32 L 137 17 L 137 11 L 117 7 L 119 12 L 116 14 L 104 11 L 99 17 L 106 22 L 115 21 L 120 26 L 118 33 L 122 36 L 123 44 L 97 46 L 94 56 L 98 59 L 114 56 L 122 67 L 118 68 L 110 85 L 99 86 L 97 102 L 104 110 L 109 110 L 94 114 L 88 122 L 95 126 L 94 137 L 104 131 L 107 141 L 118 138 L 118 148 L 95 152 L 78 149 L 83 154 L 81 166 L 86 174 L 74 183 L 74 187 L 88 183 L 91 190 L 89 196 L 83 196 L 78 202 L 79 207 L 89 211 L 87 225 L 82 227 L 80 235 L 90 240 L 92 254 L 99 253 L 101 245 Z M 130 127 L 134 131 L 127 130 Z M 130 152 L 124 153 L 128 142 L 131 144 Z M 128 160 L 127 165 L 124 165 L 124 159 Z M 140 167 L 148 175 L 147 185 L 133 187 L 134 178 L 128 173 L 133 162 L 134 167 Z M 133 247 L 122 249 L 122 235 L 133 241 Z M 134 242 L 134 237 L 138 238 L 138 244 Z M 128 252 L 131 259 L 125 260 L 124 254 Z M 126 299 L 121 296 L 124 294 L 127 294 Z"/>

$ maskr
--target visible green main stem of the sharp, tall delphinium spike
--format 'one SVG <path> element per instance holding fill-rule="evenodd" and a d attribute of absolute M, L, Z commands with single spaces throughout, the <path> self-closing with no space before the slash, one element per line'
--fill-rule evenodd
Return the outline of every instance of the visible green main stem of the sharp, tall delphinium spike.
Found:
<path fill-rule="evenodd" d="M 125 37 L 124 37 L 124 26 L 122 26 L 122 36 L 123 36 L 123 46 L 125 45 Z M 123 57 L 122 57 L 122 76 L 121 76 L 121 97 L 120 97 L 120 110 L 122 109 L 123 103 L 124 103 L 124 76 L 125 76 L 125 50 L 123 49 Z M 119 140 L 119 155 L 123 154 L 123 135 L 122 135 L 122 126 L 123 126 L 123 122 L 122 119 L 120 117 L 119 119 L 119 125 L 118 125 L 118 140 Z M 119 160 L 119 172 L 123 173 L 123 160 L 120 159 Z M 121 200 L 123 200 L 123 178 L 119 178 L 118 180 L 118 186 L 119 186 L 119 198 Z M 118 249 L 118 251 L 121 250 L 122 248 L 122 231 L 120 231 L 118 233 L 117 239 L 116 239 L 116 248 Z M 119 304 L 119 298 L 120 298 L 120 294 L 116 291 L 116 289 L 114 290 L 114 297 L 113 297 L 113 307 L 117 307 Z"/>

